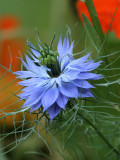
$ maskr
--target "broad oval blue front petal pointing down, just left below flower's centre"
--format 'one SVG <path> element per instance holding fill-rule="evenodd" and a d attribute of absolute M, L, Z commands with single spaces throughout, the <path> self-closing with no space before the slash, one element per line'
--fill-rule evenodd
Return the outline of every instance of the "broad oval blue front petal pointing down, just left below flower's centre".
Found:
<path fill-rule="evenodd" d="M 55 84 L 54 86 L 46 90 L 46 92 L 42 96 L 42 105 L 43 105 L 44 111 L 47 110 L 48 107 L 50 107 L 56 101 L 56 99 L 58 98 L 58 95 L 59 95 L 59 91 Z"/>

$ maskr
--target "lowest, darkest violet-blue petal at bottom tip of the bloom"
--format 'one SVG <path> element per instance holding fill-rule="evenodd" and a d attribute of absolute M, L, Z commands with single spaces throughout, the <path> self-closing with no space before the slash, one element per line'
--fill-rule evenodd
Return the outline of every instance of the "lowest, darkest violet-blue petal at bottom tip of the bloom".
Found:
<path fill-rule="evenodd" d="M 61 108 L 56 103 L 47 109 L 51 120 L 53 120 L 53 118 L 55 118 L 60 113 L 60 111 Z"/>

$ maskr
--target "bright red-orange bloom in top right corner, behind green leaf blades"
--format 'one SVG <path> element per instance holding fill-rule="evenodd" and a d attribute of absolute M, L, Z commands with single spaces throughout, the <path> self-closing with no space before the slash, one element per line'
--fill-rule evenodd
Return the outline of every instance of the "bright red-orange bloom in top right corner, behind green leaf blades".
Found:
<path fill-rule="evenodd" d="M 111 24 L 112 18 L 114 16 L 119 1 L 120 0 L 93 0 L 101 27 L 103 29 L 103 32 L 105 33 L 109 29 L 109 26 Z M 82 20 L 82 13 L 84 13 L 91 21 L 89 12 L 84 2 L 78 0 L 76 2 L 76 8 L 81 20 Z M 116 36 L 120 38 L 120 4 L 117 8 L 110 30 L 114 31 L 116 33 Z"/>

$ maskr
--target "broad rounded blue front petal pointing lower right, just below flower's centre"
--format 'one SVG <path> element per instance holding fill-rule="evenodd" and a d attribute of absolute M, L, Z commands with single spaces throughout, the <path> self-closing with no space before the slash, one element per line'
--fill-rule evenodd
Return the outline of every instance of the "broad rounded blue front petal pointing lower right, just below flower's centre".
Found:
<path fill-rule="evenodd" d="M 78 89 L 77 87 L 71 83 L 63 83 L 62 86 L 59 86 L 60 92 L 67 97 L 78 97 Z"/>

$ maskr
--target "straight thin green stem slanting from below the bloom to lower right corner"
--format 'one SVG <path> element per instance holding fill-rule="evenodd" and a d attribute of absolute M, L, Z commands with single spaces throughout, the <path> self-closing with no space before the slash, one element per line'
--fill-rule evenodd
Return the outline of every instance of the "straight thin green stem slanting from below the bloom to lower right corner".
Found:
<path fill-rule="evenodd" d="M 83 114 L 81 114 L 80 112 L 78 113 L 78 115 L 85 121 L 87 122 L 90 126 L 92 126 L 94 128 L 94 130 L 96 131 L 96 133 L 101 137 L 101 139 L 108 145 L 108 147 L 110 149 L 112 149 L 119 157 L 120 157 L 120 152 L 114 148 L 112 146 L 112 144 L 104 137 L 104 135 L 100 132 L 100 130 L 91 122 L 89 121 L 87 118 L 85 118 L 85 116 Z"/>

